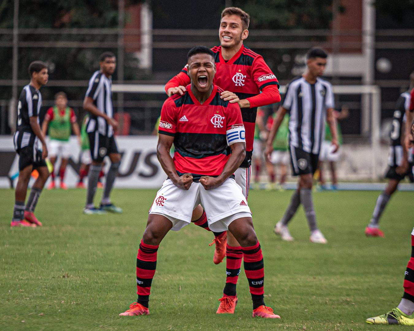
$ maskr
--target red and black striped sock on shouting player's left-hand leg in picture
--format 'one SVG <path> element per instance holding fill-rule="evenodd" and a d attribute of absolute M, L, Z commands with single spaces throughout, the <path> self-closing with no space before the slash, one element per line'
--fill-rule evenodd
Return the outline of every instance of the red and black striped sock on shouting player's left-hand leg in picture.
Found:
<path fill-rule="evenodd" d="M 142 240 L 137 255 L 137 302 L 148 308 L 151 283 L 156 269 L 156 252 L 159 246 L 145 244 Z"/>

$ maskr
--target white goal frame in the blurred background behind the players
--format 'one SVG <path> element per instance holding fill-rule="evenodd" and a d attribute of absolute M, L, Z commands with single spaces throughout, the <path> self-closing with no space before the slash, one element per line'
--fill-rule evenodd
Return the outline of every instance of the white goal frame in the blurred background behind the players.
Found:
<path fill-rule="evenodd" d="M 285 86 L 280 86 L 281 93 L 285 91 Z M 161 84 L 113 84 L 112 91 L 114 93 L 134 93 L 134 94 L 165 94 L 164 85 Z M 345 162 L 345 170 L 339 173 L 339 177 L 358 180 L 371 179 L 378 180 L 380 174 L 385 170 L 384 148 L 380 145 L 380 125 L 381 125 L 381 91 L 376 85 L 334 85 L 333 92 L 335 95 L 359 95 L 361 96 L 361 120 L 368 120 L 370 122 L 370 140 L 369 146 L 365 146 L 364 150 L 359 151 L 360 160 L 356 157 L 352 162 L 344 160 L 349 158 L 350 153 L 342 157 Z M 367 109 L 362 109 L 368 107 Z M 345 147 L 345 146 L 344 146 Z M 346 148 L 344 148 L 344 151 Z M 363 160 L 362 160 L 363 159 Z M 352 163 L 347 168 L 348 163 Z M 364 173 L 355 173 L 353 170 L 358 161 L 364 161 Z M 342 166 L 342 163 L 341 163 Z M 361 166 L 362 168 L 362 166 Z M 348 170 L 347 170 L 348 169 Z M 351 170 L 352 169 L 352 170 Z"/>

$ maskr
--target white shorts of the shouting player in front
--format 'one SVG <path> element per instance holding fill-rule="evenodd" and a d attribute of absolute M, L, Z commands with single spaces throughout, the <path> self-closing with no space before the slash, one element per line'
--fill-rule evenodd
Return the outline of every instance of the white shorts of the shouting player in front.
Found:
<path fill-rule="evenodd" d="M 208 227 L 214 232 L 228 230 L 234 220 L 252 216 L 246 198 L 232 178 L 209 190 L 199 182 L 193 182 L 188 190 L 181 189 L 167 179 L 157 192 L 149 214 L 165 216 L 173 223 L 171 230 L 178 231 L 191 223 L 193 209 L 198 204 L 203 206 Z"/>

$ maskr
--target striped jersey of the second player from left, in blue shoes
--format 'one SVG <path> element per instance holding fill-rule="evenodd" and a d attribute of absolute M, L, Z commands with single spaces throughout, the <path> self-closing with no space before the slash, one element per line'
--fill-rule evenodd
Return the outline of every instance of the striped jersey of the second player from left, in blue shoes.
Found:
<path fill-rule="evenodd" d="M 88 90 L 86 91 L 86 96 L 94 99 L 94 105 L 102 113 L 108 115 L 108 117 L 113 117 L 113 108 L 112 108 L 112 79 L 106 77 L 102 72 L 96 71 L 89 79 Z M 106 120 L 103 117 L 95 116 L 89 114 L 89 119 L 86 126 L 86 132 L 95 132 L 98 131 L 100 134 L 112 137 L 113 128 L 111 125 L 108 125 Z"/>

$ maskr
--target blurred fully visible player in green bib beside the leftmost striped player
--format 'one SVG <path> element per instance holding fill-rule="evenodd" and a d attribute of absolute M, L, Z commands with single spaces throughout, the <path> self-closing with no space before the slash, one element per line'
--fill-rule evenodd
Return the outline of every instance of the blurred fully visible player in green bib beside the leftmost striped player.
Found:
<path fill-rule="evenodd" d="M 48 189 L 54 189 L 55 185 L 55 163 L 58 156 L 61 157 L 59 177 L 60 188 L 67 189 L 64 178 L 67 161 L 70 157 L 70 134 L 76 134 L 78 143 L 81 145 L 79 125 L 76 122 L 76 115 L 72 108 L 67 106 L 67 96 L 65 92 L 58 92 L 55 95 L 55 106 L 48 109 L 42 123 L 43 135 L 49 136 L 49 160 L 53 165 L 51 172 L 52 181 Z"/>

